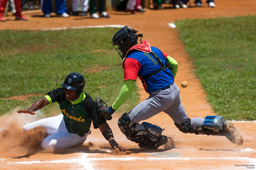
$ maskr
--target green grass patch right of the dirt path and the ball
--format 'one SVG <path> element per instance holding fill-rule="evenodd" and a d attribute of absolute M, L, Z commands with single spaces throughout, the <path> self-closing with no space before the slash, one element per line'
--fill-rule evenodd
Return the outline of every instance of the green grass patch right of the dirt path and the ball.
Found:
<path fill-rule="evenodd" d="M 248 15 L 175 22 L 212 109 L 226 119 L 256 119 L 255 21 Z"/>

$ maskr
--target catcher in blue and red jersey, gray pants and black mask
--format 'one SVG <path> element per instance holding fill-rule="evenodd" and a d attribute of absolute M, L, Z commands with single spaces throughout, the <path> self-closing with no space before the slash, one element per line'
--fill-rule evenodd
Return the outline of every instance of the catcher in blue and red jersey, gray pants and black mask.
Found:
<path fill-rule="evenodd" d="M 189 118 L 180 100 L 180 90 L 174 83 L 178 63 L 157 47 L 150 46 L 138 31 L 124 26 L 112 39 L 113 46 L 121 56 L 124 69 L 124 83 L 115 102 L 110 107 L 101 108 L 107 120 L 114 111 L 130 96 L 137 76 L 143 83 L 149 97 L 124 113 L 118 120 L 118 127 L 127 139 L 139 144 L 142 149 L 157 149 L 168 141 L 162 135 L 162 128 L 147 122 L 139 124 L 161 111 L 168 114 L 176 127 L 183 133 L 225 136 L 232 143 L 243 144 L 243 136 L 230 122 L 221 116 L 206 118 Z"/>

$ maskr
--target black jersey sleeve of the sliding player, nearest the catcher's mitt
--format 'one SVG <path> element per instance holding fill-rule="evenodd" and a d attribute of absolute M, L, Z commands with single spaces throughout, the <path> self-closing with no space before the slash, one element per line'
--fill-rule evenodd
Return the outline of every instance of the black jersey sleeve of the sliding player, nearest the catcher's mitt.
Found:
<path fill-rule="evenodd" d="M 94 129 L 97 129 L 100 125 L 106 122 L 106 119 L 104 119 L 102 116 L 99 115 L 96 108 L 96 102 L 92 99 L 91 96 L 89 96 L 87 93 L 85 99 L 83 100 L 83 106 L 88 113 L 89 117 L 93 121 L 93 127 Z"/>

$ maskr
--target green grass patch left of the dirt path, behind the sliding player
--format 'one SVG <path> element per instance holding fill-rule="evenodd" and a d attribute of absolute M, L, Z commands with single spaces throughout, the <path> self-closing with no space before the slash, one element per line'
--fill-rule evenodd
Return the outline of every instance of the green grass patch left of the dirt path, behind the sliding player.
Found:
<path fill-rule="evenodd" d="M 120 28 L 68 29 L 61 31 L 3 30 L 0 32 L 0 115 L 29 107 L 54 88 L 61 87 L 67 74 L 78 72 L 86 79 L 84 91 L 94 99 L 110 99 L 111 105 L 123 84 L 122 59 L 112 46 Z M 3 48 L 4 47 L 4 48 Z M 118 109 L 130 111 L 139 103 L 135 87 Z M 28 100 L 11 96 L 40 94 Z M 42 109 L 46 116 L 59 111 L 58 104 Z M 60 113 L 60 111 L 59 111 Z"/>

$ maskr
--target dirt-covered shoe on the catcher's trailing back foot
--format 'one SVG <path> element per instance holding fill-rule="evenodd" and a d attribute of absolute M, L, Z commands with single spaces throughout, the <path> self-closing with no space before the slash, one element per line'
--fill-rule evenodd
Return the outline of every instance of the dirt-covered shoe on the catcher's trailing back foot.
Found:
<path fill-rule="evenodd" d="M 225 122 L 223 125 L 223 134 L 228 140 L 237 146 L 241 146 L 244 143 L 243 135 L 236 129 L 231 122 Z"/>

